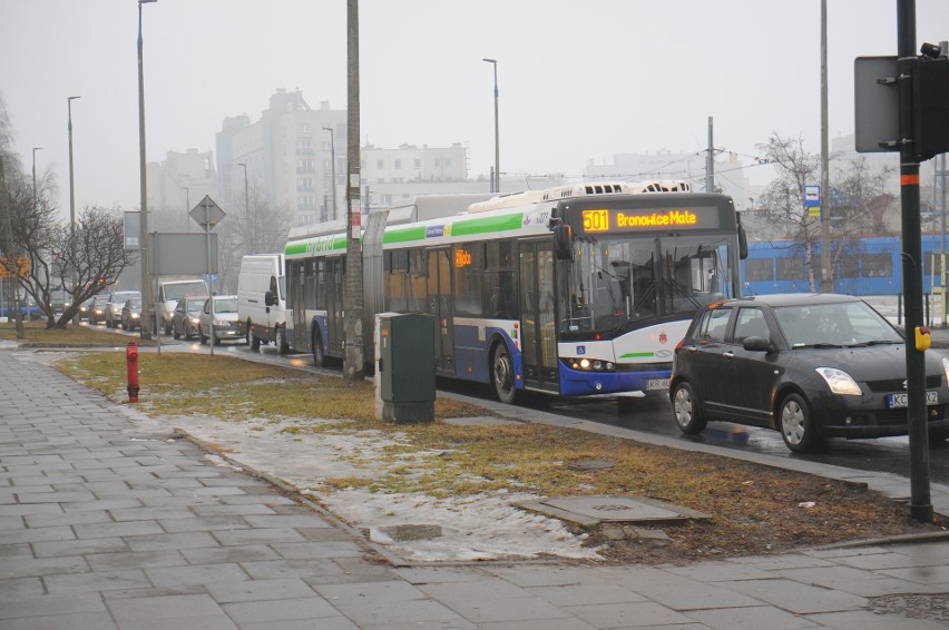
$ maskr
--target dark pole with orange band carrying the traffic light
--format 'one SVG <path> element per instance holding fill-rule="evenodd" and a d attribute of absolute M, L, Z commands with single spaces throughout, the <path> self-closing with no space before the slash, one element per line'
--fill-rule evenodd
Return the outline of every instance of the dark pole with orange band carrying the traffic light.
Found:
<path fill-rule="evenodd" d="M 926 425 L 926 358 L 916 348 L 922 326 L 922 236 L 919 219 L 919 158 L 913 140 L 912 81 L 916 59 L 916 1 L 897 2 L 897 56 L 900 99 L 900 197 L 902 205 L 902 266 L 907 312 L 907 413 L 910 440 L 910 515 L 932 522 L 929 493 L 929 432 Z"/>

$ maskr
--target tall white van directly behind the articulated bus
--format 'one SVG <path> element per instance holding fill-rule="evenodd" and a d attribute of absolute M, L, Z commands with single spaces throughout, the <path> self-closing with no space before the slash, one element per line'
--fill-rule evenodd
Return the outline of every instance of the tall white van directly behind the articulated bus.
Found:
<path fill-rule="evenodd" d="M 241 259 L 237 276 L 237 326 L 251 350 L 273 343 L 281 354 L 286 345 L 286 278 L 283 254 L 254 254 Z"/>

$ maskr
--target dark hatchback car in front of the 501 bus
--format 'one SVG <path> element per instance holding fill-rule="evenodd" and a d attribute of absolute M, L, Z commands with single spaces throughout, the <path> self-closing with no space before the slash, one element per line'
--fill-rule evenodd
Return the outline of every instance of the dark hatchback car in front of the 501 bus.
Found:
<path fill-rule="evenodd" d="M 699 311 L 675 350 L 669 396 L 683 433 L 708 421 L 781 432 L 796 452 L 823 437 L 908 433 L 906 341 L 859 297 L 761 295 Z M 926 352 L 930 439 L 949 436 L 949 360 Z"/>

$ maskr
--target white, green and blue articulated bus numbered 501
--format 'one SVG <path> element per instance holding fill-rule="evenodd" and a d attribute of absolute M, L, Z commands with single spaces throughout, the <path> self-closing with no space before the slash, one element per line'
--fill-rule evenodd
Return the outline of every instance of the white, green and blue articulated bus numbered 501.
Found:
<path fill-rule="evenodd" d="M 666 388 L 696 309 L 740 295 L 746 245 L 724 195 L 580 184 L 461 211 L 459 197 L 364 219 L 364 329 L 375 313 L 432 315 L 437 374 L 490 384 L 503 402 Z M 343 356 L 345 256 L 342 232 L 286 245 L 287 339 L 317 365 Z"/>

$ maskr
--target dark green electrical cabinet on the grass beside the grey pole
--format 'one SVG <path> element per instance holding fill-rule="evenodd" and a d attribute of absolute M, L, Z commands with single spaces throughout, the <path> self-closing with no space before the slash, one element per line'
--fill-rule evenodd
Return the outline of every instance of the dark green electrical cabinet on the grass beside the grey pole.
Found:
<path fill-rule="evenodd" d="M 379 317 L 382 419 L 434 421 L 434 319 L 417 313 Z"/>

